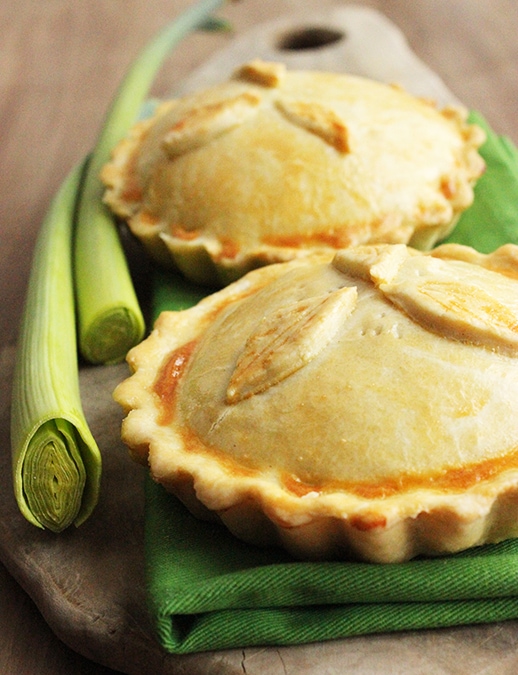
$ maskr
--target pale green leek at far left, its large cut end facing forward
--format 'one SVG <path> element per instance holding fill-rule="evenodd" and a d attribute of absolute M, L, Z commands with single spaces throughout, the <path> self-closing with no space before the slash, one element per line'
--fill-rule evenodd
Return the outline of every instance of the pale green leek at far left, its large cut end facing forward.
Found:
<path fill-rule="evenodd" d="M 77 363 L 72 237 L 84 166 L 55 195 L 34 252 L 11 404 L 13 484 L 33 525 L 80 525 L 99 493 L 101 456 L 85 420 Z"/>

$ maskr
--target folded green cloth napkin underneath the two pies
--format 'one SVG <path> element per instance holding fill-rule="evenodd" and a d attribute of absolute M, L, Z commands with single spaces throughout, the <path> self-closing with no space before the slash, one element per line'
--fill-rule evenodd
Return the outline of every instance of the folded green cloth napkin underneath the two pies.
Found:
<path fill-rule="evenodd" d="M 450 236 L 488 252 L 518 237 L 518 151 L 484 127 L 487 171 Z M 206 291 L 157 274 L 153 312 Z M 146 579 L 168 652 L 288 645 L 518 618 L 518 540 L 407 563 L 298 562 L 193 518 L 146 482 Z"/>

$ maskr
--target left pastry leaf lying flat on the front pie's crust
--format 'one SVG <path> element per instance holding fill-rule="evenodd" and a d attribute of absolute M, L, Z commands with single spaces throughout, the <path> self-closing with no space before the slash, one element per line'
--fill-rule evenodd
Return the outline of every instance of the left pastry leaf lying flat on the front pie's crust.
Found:
<path fill-rule="evenodd" d="M 356 299 L 356 288 L 345 287 L 265 316 L 232 373 L 227 403 L 262 393 L 307 365 L 335 338 Z"/>

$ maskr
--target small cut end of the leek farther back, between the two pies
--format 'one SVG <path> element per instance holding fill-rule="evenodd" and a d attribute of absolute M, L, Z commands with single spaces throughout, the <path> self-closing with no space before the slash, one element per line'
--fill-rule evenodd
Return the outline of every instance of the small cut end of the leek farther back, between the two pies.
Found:
<path fill-rule="evenodd" d="M 140 315 L 128 307 L 115 307 L 90 323 L 81 336 L 81 353 L 90 363 L 120 363 L 143 334 Z"/>

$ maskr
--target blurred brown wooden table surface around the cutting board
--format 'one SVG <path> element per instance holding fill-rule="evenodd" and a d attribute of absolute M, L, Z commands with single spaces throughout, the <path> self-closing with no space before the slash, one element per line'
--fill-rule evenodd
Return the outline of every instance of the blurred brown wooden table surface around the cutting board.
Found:
<path fill-rule="evenodd" d="M 16 340 L 42 216 L 68 169 L 92 146 L 127 65 L 187 0 L 3 0 L 0 4 L 0 347 Z M 220 14 L 237 32 L 337 0 L 241 0 Z M 413 50 L 466 105 L 518 143 L 518 3 L 515 0 L 374 0 Z M 154 93 L 175 84 L 231 35 L 188 38 L 164 65 Z M 3 452 L 9 452 L 2 429 Z M 1 514 L 0 514 L 1 517 Z M 508 672 L 515 672 L 518 654 Z M 111 673 L 51 632 L 0 565 L 0 673 Z M 387 672 L 389 672 L 387 670 Z M 390 672 L 399 672 L 392 664 Z M 451 672 L 462 673 L 462 664 Z"/>

